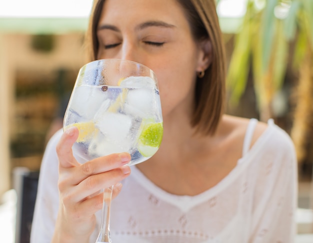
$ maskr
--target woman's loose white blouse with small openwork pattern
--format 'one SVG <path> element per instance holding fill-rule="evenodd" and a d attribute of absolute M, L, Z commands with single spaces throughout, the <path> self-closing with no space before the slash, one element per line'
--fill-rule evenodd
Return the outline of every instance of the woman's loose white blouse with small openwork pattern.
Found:
<path fill-rule="evenodd" d="M 271 121 L 253 144 L 251 119 L 237 165 L 218 184 L 195 196 L 170 194 L 135 166 L 112 201 L 113 243 L 287 243 L 295 235 L 297 173 L 290 137 Z M 31 242 L 50 242 L 58 210 L 55 146 L 49 141 L 41 164 Z M 195 178 L 196 179 L 196 178 Z M 95 242 L 97 227 L 90 237 Z"/>

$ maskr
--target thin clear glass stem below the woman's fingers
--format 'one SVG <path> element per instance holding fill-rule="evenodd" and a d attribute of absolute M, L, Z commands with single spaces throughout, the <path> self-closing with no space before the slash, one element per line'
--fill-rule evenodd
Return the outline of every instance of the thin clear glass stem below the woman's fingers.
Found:
<path fill-rule="evenodd" d="M 96 239 L 98 242 L 111 243 L 110 237 L 110 209 L 111 209 L 111 200 L 112 200 L 112 190 L 113 186 L 105 188 L 103 190 L 103 206 L 102 206 L 102 218 L 101 218 L 101 227 L 99 235 Z"/>

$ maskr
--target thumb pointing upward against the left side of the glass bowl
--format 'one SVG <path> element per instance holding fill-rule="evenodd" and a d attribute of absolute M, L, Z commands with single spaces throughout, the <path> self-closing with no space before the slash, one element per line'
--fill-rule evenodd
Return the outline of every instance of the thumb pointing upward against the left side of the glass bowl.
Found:
<path fill-rule="evenodd" d="M 66 129 L 56 145 L 56 153 L 60 168 L 69 168 L 78 165 L 72 153 L 72 145 L 78 137 L 78 128 L 73 126 Z"/>

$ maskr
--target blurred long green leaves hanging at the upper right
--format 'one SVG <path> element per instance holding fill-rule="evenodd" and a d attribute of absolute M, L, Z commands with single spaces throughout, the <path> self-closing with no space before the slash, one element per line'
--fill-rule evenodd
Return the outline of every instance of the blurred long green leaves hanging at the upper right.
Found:
<path fill-rule="evenodd" d="M 313 47 L 313 0 L 266 0 L 262 9 L 256 8 L 255 0 L 247 0 L 246 9 L 235 35 L 227 90 L 230 104 L 237 104 L 252 68 L 257 105 L 262 110 L 282 87 L 290 43 L 295 43 L 291 57 L 295 70 L 307 46 Z"/>

